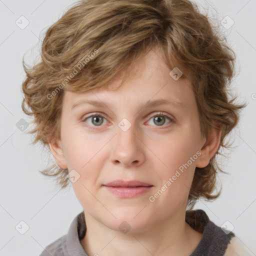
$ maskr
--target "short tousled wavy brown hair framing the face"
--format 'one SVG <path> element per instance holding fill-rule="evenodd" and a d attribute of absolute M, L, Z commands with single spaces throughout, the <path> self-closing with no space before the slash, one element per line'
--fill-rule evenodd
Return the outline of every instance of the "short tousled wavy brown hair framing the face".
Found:
<path fill-rule="evenodd" d="M 234 103 L 237 96 L 228 98 L 235 54 L 217 28 L 189 0 L 77 1 L 47 29 L 40 61 L 28 68 L 23 58 L 22 110 L 34 117 L 33 143 L 49 146 L 59 139 L 63 89 L 87 92 L 119 73 L 124 82 L 134 61 L 157 48 L 170 70 L 173 63 L 189 70 L 201 134 L 221 124 L 218 150 L 206 167 L 196 167 L 188 204 L 216 198 L 216 174 L 222 171 L 216 154 L 230 147 L 224 138 L 245 106 Z M 56 163 L 40 172 L 55 177 L 61 188 L 68 184 L 68 170 Z"/>

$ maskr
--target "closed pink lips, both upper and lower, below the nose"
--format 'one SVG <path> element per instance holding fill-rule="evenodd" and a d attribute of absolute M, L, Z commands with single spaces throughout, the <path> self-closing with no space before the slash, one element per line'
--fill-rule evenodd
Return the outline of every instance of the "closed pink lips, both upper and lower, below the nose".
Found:
<path fill-rule="evenodd" d="M 122 198 L 131 198 L 150 190 L 151 184 L 139 180 L 114 180 L 104 184 L 108 191 Z"/>

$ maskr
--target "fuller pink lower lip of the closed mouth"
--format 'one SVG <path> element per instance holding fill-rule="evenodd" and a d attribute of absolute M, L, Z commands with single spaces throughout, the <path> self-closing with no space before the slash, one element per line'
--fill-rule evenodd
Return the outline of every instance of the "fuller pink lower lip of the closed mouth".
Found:
<path fill-rule="evenodd" d="M 150 190 L 152 186 L 114 187 L 105 186 L 110 192 L 122 198 L 131 198 Z"/>

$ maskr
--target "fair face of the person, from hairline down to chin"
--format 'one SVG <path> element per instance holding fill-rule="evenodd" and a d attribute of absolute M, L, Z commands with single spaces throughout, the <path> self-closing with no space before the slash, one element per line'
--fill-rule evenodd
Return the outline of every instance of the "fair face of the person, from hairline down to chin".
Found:
<path fill-rule="evenodd" d="M 190 81 L 174 80 L 153 51 L 136 68 L 140 74 L 118 89 L 114 79 L 86 93 L 65 91 L 61 139 L 50 145 L 71 171 L 84 212 L 116 230 L 123 221 L 145 230 L 184 212 L 194 169 L 215 149 L 203 147 Z"/>

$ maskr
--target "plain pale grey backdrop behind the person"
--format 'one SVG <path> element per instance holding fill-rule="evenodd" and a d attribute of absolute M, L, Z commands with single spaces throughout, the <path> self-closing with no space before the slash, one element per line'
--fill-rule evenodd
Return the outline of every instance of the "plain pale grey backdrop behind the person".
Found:
<path fill-rule="evenodd" d="M 22 126 L 30 119 L 21 109 L 22 57 L 26 53 L 27 63 L 36 62 L 42 34 L 74 2 L 0 0 L 0 256 L 39 255 L 66 234 L 82 211 L 71 186 L 62 191 L 38 172 L 46 167 L 48 152 L 40 143 L 30 144 L 33 137 L 25 134 L 29 127 Z M 213 19 L 230 26 L 220 28 L 237 56 L 239 73 L 231 87 L 248 105 L 230 134 L 234 149 L 226 152 L 227 158 L 219 157 L 230 173 L 218 175 L 221 196 L 212 202 L 199 200 L 195 208 L 205 210 L 219 226 L 228 221 L 227 226 L 256 255 L 256 0 L 196 2 Z"/>

